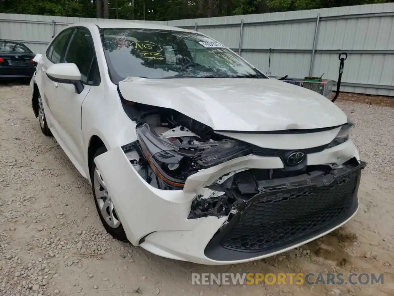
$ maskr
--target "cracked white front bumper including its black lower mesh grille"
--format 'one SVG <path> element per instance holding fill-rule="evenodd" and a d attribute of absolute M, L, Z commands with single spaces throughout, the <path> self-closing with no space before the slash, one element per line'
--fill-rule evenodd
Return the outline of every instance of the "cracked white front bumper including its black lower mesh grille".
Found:
<path fill-rule="evenodd" d="M 205 186 L 212 178 L 245 167 L 281 168 L 279 157 L 233 159 L 191 175 L 184 189 L 176 191 L 147 184 L 121 147 L 99 155 L 95 163 L 133 245 L 171 259 L 220 265 L 298 247 L 340 227 L 357 212 L 357 189 L 365 163 L 358 161 L 354 144 L 349 140 L 319 154 L 308 155 L 308 164 L 330 159 L 327 163 L 340 165 L 352 157 L 357 164 L 324 178 L 297 180 L 286 189 L 256 194 L 234 216 L 196 219 L 188 219 L 192 202 L 197 195 L 210 196 L 212 191 Z"/>

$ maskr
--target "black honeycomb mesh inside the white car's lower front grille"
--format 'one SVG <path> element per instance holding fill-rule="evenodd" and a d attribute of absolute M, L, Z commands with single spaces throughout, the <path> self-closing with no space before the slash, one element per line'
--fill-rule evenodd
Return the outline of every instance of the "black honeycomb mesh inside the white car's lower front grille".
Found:
<path fill-rule="evenodd" d="M 222 238 L 221 245 L 238 251 L 260 252 L 319 232 L 349 212 L 357 180 L 358 172 L 353 172 L 330 186 L 262 195 Z"/>

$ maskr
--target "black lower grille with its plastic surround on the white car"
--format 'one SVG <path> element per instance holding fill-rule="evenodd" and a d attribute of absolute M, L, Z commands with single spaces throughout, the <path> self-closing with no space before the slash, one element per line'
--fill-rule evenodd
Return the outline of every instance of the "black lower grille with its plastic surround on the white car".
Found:
<path fill-rule="evenodd" d="M 258 257 L 335 229 L 357 211 L 365 165 L 344 165 L 324 176 L 258 193 L 216 233 L 205 255 L 219 261 Z"/>

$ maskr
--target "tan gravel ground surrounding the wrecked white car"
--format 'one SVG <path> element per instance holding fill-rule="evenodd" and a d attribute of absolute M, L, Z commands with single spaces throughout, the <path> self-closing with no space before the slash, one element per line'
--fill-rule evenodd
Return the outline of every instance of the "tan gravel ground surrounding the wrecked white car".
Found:
<path fill-rule="evenodd" d="M 352 138 L 368 162 L 360 210 L 345 227 L 266 260 L 201 266 L 106 234 L 91 188 L 41 133 L 29 96 L 26 85 L 0 85 L 0 295 L 392 295 L 394 109 L 337 102 L 356 122 Z M 192 272 L 374 272 L 384 285 L 197 286 Z"/>

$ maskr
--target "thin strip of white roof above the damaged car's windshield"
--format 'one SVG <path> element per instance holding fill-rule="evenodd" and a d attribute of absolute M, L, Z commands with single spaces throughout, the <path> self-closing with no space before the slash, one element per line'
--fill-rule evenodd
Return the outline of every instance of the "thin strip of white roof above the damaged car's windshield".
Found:
<path fill-rule="evenodd" d="M 130 28 L 130 29 L 151 29 L 151 30 L 169 30 L 169 31 L 181 31 L 181 32 L 193 32 L 193 30 L 187 30 L 172 26 L 164 26 L 160 24 L 150 24 L 146 22 L 133 22 L 133 21 L 97 21 L 97 22 L 80 22 L 70 25 L 69 27 L 84 26 L 87 28 L 93 28 L 98 26 L 99 28 Z"/>

